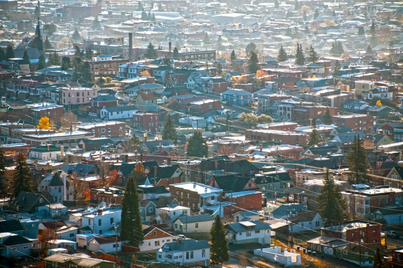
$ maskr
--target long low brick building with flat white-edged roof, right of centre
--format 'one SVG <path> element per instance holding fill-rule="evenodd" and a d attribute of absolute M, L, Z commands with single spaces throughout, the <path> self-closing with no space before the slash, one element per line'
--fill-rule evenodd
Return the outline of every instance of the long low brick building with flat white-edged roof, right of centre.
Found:
<path fill-rule="evenodd" d="M 245 130 L 245 139 L 257 141 L 272 141 L 286 145 L 306 145 L 305 133 L 296 133 L 280 130 L 248 129 Z"/>

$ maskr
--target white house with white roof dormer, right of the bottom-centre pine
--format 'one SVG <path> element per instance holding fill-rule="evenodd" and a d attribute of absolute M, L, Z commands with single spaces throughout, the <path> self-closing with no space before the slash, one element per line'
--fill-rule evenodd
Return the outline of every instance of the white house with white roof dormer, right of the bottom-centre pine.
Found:
<path fill-rule="evenodd" d="M 270 244 L 270 225 L 261 221 L 228 223 L 224 226 L 228 241 L 234 244 L 259 243 Z"/>

